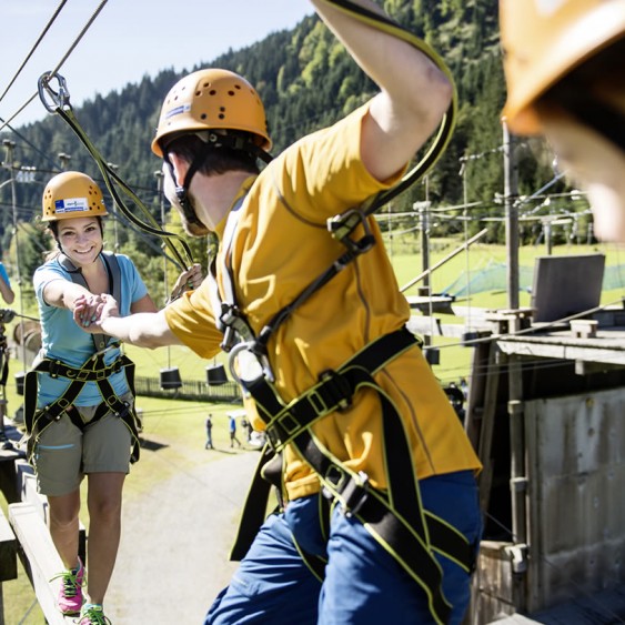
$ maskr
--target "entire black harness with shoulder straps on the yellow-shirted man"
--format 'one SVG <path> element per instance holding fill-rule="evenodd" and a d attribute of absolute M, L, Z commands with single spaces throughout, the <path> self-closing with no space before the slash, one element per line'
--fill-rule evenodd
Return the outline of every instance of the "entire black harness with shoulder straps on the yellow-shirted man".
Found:
<path fill-rule="evenodd" d="M 421 41 L 400 27 L 354 7 L 343 0 L 330 0 L 356 19 L 382 28 L 415 44 L 448 75 L 442 61 Z M 268 344 L 276 330 L 313 294 L 327 284 L 361 254 L 374 244 L 369 218 L 382 204 L 421 179 L 434 164 L 451 137 L 455 118 L 455 97 L 434 144 L 425 158 L 397 185 L 379 193 L 357 209 L 350 209 L 327 221 L 330 234 L 345 248 L 343 253 L 304 288 L 298 296 L 280 310 L 256 334 L 235 298 L 235 276 L 232 268 L 232 241 L 244 198 L 239 199 L 226 220 L 222 238 L 222 291 L 216 283 L 216 266 L 210 272 L 212 305 L 218 327 L 223 332 L 222 349 L 230 352 L 232 376 L 245 395 L 254 400 L 259 416 L 265 424 L 268 445 L 263 450 L 243 508 L 239 533 L 232 548 L 232 560 L 241 560 L 248 552 L 264 521 L 268 497 L 275 486 L 280 506 L 283 493 L 282 452 L 292 446 L 320 480 L 320 524 L 329 536 L 330 513 L 340 505 L 346 515 L 357 518 L 425 592 L 434 621 L 446 623 L 451 606 L 442 592 L 442 569 L 435 552 L 451 558 L 467 573 L 474 563 L 474 546 L 445 521 L 424 511 L 421 505 L 419 481 L 414 474 L 412 454 L 399 410 L 374 375 L 406 350 L 420 345 L 415 336 L 403 329 L 382 336 L 334 371 L 324 371 L 317 383 L 291 401 L 283 402 L 275 386 L 275 376 L 269 361 Z M 324 416 L 344 411 L 357 401 L 357 394 L 370 389 L 377 394 L 384 431 L 387 490 L 374 488 L 364 473 L 354 473 L 345 466 L 312 433 L 312 426 Z M 306 554 L 296 545 L 311 572 L 323 579 L 325 561 Z"/>

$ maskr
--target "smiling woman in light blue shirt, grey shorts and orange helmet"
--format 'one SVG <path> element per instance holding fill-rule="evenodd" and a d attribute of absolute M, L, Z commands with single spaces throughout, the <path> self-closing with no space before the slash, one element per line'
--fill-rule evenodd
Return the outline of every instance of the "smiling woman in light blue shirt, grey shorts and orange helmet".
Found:
<path fill-rule="evenodd" d="M 108 623 L 103 603 L 121 535 L 122 488 L 139 458 L 133 364 L 119 341 L 83 331 L 102 295 L 114 293 L 120 314 L 157 306 L 137 268 L 103 251 L 102 191 L 88 175 L 67 171 L 43 191 L 42 222 L 56 250 L 33 275 L 42 347 L 27 374 L 28 458 L 47 495 L 50 534 L 65 571 L 59 573 L 59 611 L 80 625 Z M 177 282 L 195 280 L 196 269 Z M 198 281 L 199 284 L 199 281 Z M 79 327 L 77 308 L 87 312 Z M 80 485 L 87 475 L 89 575 L 79 557 Z M 85 592 L 87 591 L 87 592 Z"/>

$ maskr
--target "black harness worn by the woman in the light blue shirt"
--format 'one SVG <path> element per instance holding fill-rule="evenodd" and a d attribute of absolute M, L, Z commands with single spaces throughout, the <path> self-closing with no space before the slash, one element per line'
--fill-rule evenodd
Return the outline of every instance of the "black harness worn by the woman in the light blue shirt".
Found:
<path fill-rule="evenodd" d="M 110 292 L 115 301 L 121 304 L 121 272 L 119 262 L 111 252 L 102 252 L 101 256 L 109 274 Z M 80 269 L 77 269 L 68 256 L 59 254 L 58 262 L 69 272 L 72 282 L 87 288 L 87 282 Z M 130 431 L 132 438 L 131 462 L 134 463 L 139 460 L 141 420 L 134 406 L 118 397 L 112 384 L 109 382 L 111 375 L 123 371 L 130 392 L 134 396 L 134 363 L 125 354 L 121 354 L 114 362 L 107 365 L 104 362 L 107 351 L 119 345 L 119 343 L 113 342 L 105 334 L 92 334 L 92 340 L 97 351 L 80 369 L 70 366 L 57 359 L 43 359 L 26 374 L 24 425 L 28 436 L 27 457 L 29 461 L 32 458 L 41 433 L 52 423 L 60 421 L 63 413 L 81 431 L 84 431 L 108 413 L 112 413 L 121 419 Z M 40 373 L 47 373 L 53 379 L 67 379 L 69 384 L 60 397 L 51 404 L 38 409 L 37 394 Z M 102 402 L 97 407 L 91 421 L 84 423 L 73 403 L 87 382 L 95 382 L 102 396 Z"/>

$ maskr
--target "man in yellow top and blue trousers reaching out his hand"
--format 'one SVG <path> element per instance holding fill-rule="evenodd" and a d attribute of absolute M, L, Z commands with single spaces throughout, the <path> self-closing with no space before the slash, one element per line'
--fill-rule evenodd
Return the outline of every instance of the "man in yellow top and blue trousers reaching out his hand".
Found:
<path fill-rule="evenodd" d="M 349 241 L 327 228 L 401 179 L 453 87 L 343 2 L 312 3 L 380 92 L 259 172 L 271 140 L 252 85 L 218 69 L 179 81 L 152 150 L 188 232 L 220 239 L 213 275 L 154 315 L 119 317 L 104 298 L 92 330 L 206 359 L 223 344 L 253 427 L 266 429 L 270 464 L 280 462 L 282 508 L 241 553 L 206 623 L 458 624 L 482 528 L 481 465 L 405 330 L 410 308 L 375 220 L 356 214 Z M 354 6 L 381 14 L 369 0 Z"/>

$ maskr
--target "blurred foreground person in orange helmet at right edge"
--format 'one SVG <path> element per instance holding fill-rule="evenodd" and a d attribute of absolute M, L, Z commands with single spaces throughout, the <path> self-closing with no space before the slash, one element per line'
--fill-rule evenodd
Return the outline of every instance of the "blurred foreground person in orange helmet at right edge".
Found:
<path fill-rule="evenodd" d="M 594 232 L 625 242 L 625 0 L 500 0 L 516 134 L 543 134 L 584 189 Z"/>

